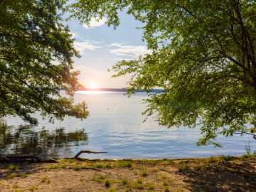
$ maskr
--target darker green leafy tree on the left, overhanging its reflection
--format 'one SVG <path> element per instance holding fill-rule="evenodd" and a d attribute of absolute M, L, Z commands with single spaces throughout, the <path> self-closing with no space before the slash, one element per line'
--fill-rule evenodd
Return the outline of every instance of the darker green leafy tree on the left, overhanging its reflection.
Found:
<path fill-rule="evenodd" d="M 2 0 L 0 2 L 0 117 L 18 115 L 63 119 L 86 118 L 85 102 L 73 105 L 78 71 L 72 57 L 79 57 L 67 26 L 63 26 L 59 0 Z M 70 97 L 62 97 L 64 89 Z"/>

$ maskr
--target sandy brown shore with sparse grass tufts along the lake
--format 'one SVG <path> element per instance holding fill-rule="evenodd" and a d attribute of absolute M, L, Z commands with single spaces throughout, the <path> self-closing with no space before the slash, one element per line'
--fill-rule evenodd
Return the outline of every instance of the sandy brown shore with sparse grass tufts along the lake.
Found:
<path fill-rule="evenodd" d="M 253 191 L 256 157 L 0 164 L 0 191 Z"/>

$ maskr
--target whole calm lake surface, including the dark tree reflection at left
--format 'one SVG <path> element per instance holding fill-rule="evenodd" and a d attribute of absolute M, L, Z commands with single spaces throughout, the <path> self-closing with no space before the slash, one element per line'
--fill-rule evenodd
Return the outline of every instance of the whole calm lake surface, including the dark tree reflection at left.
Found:
<path fill-rule="evenodd" d="M 26 126 L 18 117 L 8 117 L 1 125 L 1 154 L 40 154 L 72 157 L 81 150 L 107 151 L 107 154 L 82 154 L 89 159 L 176 159 L 245 154 L 245 142 L 252 149 L 256 142 L 250 136 L 236 134 L 219 137 L 223 148 L 196 146 L 201 137 L 198 128 L 160 127 L 149 117 L 143 123 L 142 100 L 146 93 L 128 98 L 124 92 L 76 92 L 75 102 L 85 100 L 90 117 L 71 117 L 51 124 L 37 114 L 38 127 Z"/>

